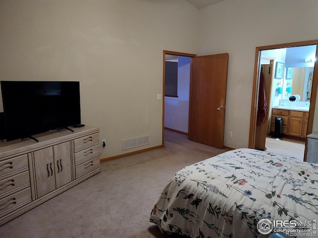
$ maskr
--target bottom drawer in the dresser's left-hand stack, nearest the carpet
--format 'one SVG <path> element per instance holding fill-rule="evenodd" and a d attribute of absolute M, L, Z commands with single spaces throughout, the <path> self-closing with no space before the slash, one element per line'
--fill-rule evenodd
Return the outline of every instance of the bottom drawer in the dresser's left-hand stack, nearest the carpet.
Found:
<path fill-rule="evenodd" d="M 13 193 L 0 199 L 0 217 L 18 209 L 31 202 L 31 190 L 27 187 L 19 192 Z"/>

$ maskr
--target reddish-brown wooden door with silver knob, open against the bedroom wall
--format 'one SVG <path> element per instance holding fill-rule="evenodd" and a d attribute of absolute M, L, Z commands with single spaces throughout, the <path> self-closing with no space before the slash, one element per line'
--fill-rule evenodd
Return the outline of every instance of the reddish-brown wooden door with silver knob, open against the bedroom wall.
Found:
<path fill-rule="evenodd" d="M 223 148 L 229 54 L 193 58 L 189 139 Z"/>

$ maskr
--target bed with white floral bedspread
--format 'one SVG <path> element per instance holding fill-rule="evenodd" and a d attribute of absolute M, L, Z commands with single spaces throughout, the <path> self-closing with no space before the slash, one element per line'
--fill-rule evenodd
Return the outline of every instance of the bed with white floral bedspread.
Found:
<path fill-rule="evenodd" d="M 285 227 L 308 228 L 287 235 L 310 237 L 317 218 L 318 164 L 243 148 L 176 172 L 150 222 L 191 238 L 256 238 L 275 234 L 282 224 L 274 220 L 280 220 Z M 274 223 L 268 235 L 257 229 L 263 219 Z"/>

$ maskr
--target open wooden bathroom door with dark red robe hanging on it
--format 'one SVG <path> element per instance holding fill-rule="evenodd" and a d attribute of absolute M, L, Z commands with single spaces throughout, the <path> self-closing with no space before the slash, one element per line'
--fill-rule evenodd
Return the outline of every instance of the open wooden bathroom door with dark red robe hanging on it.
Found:
<path fill-rule="evenodd" d="M 265 150 L 266 136 L 268 134 L 269 119 L 270 119 L 270 109 L 271 109 L 271 89 L 272 89 L 272 78 L 273 78 L 273 65 L 272 64 L 262 64 L 261 72 L 264 76 L 264 86 L 266 92 L 267 100 L 267 117 L 260 125 L 256 125 L 255 131 L 255 149 Z"/>

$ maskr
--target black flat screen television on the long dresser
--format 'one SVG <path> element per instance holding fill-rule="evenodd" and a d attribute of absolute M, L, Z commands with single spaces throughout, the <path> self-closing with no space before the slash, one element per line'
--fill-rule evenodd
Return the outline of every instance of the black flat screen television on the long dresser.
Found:
<path fill-rule="evenodd" d="M 80 123 L 77 81 L 0 81 L 0 85 L 7 141 L 35 139 L 35 134 Z"/>

